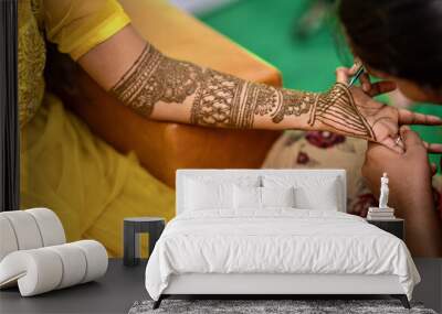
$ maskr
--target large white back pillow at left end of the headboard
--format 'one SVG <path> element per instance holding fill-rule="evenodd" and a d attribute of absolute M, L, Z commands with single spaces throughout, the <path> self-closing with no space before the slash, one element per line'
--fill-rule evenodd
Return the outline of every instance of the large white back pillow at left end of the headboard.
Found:
<path fill-rule="evenodd" d="M 185 207 L 189 210 L 233 207 L 233 184 L 187 180 Z"/>

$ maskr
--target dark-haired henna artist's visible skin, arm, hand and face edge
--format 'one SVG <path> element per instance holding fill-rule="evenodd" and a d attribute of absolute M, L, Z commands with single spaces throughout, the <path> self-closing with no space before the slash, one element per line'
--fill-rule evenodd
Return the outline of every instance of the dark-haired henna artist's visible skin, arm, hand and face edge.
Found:
<path fill-rule="evenodd" d="M 366 67 L 367 68 L 367 67 Z M 351 75 L 355 68 L 343 69 Z M 398 78 L 368 67 L 368 73 L 394 83 L 408 98 L 442 104 L 442 96 L 408 79 Z M 361 77 L 365 90 L 371 89 L 368 75 Z M 369 143 L 362 176 L 377 197 L 383 172 L 390 178 L 389 204 L 406 219 L 407 245 L 414 257 L 442 257 L 442 220 L 434 208 L 431 181 L 436 166 L 429 163 L 428 152 L 441 153 L 441 144 L 423 142 L 419 134 L 403 126 L 400 129 L 404 152 L 392 153 L 378 143 Z"/>

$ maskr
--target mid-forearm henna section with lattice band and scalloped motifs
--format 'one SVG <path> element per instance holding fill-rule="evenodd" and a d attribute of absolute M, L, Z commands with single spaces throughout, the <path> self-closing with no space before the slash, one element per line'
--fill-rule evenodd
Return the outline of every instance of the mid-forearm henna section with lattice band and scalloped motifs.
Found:
<path fill-rule="evenodd" d="M 284 116 L 308 113 L 314 93 L 278 89 L 245 83 L 212 69 L 204 73 L 194 98 L 191 123 L 228 128 L 253 128 L 255 116 L 270 116 L 278 123 Z"/>

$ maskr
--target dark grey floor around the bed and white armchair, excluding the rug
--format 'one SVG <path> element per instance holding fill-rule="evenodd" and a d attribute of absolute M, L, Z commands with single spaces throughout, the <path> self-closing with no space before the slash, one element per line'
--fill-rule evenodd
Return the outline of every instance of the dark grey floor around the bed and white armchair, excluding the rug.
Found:
<path fill-rule="evenodd" d="M 422 282 L 414 290 L 413 301 L 442 312 L 442 259 L 414 262 Z M 1 290 L 0 313 L 127 313 L 135 301 L 149 297 L 144 283 L 145 268 L 146 261 L 124 267 L 123 259 L 110 259 L 106 275 L 96 282 L 32 297 L 21 297 L 17 288 Z"/>

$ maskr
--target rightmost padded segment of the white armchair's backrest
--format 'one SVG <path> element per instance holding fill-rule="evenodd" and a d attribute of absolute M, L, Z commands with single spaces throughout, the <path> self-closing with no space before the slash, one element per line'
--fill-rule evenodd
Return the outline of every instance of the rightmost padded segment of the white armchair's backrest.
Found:
<path fill-rule="evenodd" d="M 57 246 L 66 242 L 62 221 L 54 212 L 48 208 L 27 209 L 31 214 L 40 229 L 43 247 Z"/>

